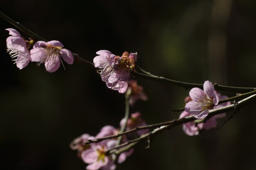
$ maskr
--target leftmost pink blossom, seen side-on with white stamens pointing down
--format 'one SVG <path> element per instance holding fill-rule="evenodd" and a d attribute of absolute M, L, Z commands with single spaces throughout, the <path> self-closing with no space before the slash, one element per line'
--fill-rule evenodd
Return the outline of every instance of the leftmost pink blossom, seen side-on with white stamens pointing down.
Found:
<path fill-rule="evenodd" d="M 5 30 L 9 31 L 9 34 L 12 35 L 6 39 L 7 52 L 11 55 L 14 64 L 16 63 L 16 66 L 22 69 L 27 66 L 30 61 L 26 41 L 16 29 L 9 28 Z"/>

